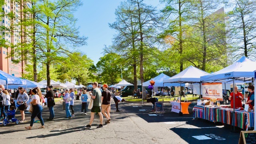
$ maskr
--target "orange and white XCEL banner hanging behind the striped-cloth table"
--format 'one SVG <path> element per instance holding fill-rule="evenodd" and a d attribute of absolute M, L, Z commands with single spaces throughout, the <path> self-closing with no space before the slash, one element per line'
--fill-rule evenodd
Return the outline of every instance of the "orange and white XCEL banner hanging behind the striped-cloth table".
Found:
<path fill-rule="evenodd" d="M 216 97 L 217 100 L 222 101 L 222 83 L 202 83 L 202 96 L 204 99 L 211 99 L 212 97 Z"/>

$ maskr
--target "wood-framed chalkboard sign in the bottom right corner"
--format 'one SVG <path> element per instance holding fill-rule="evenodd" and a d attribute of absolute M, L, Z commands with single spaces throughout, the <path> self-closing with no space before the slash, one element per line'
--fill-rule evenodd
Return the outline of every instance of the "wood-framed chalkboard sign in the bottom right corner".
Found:
<path fill-rule="evenodd" d="M 238 144 L 256 144 L 256 130 L 241 131 Z"/>

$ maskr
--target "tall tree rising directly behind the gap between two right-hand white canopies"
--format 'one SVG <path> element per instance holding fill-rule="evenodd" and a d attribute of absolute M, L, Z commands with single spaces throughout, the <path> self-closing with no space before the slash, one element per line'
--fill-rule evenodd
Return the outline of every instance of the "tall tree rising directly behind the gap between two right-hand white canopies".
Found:
<path fill-rule="evenodd" d="M 187 47 L 192 54 L 186 60 L 196 67 L 207 70 L 206 64 L 226 64 L 226 30 L 224 9 L 214 12 L 220 5 L 219 0 L 190 1 L 190 30 Z M 194 56 L 194 55 L 196 56 Z"/>

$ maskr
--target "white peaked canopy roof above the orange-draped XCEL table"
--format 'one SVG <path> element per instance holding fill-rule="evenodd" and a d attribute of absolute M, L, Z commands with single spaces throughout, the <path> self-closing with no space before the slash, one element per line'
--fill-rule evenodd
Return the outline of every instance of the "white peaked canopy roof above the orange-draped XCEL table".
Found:
<path fill-rule="evenodd" d="M 166 82 L 177 82 L 177 83 L 199 83 L 200 77 L 209 74 L 203 70 L 200 70 L 194 66 L 189 66 L 182 72 L 172 76 L 171 78 L 164 80 Z"/>

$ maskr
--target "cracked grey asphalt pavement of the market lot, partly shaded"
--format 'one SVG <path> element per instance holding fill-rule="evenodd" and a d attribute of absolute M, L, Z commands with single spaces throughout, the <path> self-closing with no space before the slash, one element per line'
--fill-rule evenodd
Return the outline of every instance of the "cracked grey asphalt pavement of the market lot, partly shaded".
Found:
<path fill-rule="evenodd" d="M 37 129 L 41 124 L 34 123 L 32 130 L 24 127 L 30 125 L 30 113 L 25 113 L 26 123 L 0 125 L 0 142 L 4 143 L 65 143 L 65 144 L 235 144 L 238 143 L 240 131 L 231 132 L 230 127 L 221 123 L 196 119 L 193 120 L 195 103 L 190 104 L 189 113 L 179 116 L 171 112 L 171 104 L 165 102 L 164 113 L 153 113 L 151 103 L 119 103 L 116 112 L 114 101 L 111 105 L 111 121 L 103 128 L 96 128 L 100 123 L 95 115 L 91 129 L 84 128 L 90 121 L 88 115 L 81 115 L 81 101 L 75 100 L 73 119 L 64 120 L 66 113 L 62 110 L 62 101 L 54 106 L 55 120 L 46 121 L 49 111 L 43 109 L 45 128 Z M 103 116 L 104 117 L 104 116 Z M 20 113 L 16 112 L 20 119 Z M 104 117 L 104 121 L 106 118 Z M 0 122 L 2 123 L 2 122 Z"/>

